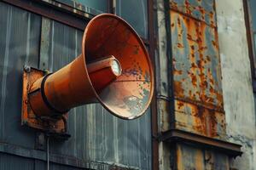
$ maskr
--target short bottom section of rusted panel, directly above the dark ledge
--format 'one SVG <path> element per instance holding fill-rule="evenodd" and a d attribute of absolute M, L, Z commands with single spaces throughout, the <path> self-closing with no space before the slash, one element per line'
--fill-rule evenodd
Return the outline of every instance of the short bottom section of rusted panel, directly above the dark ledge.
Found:
<path fill-rule="evenodd" d="M 225 138 L 224 113 L 175 100 L 176 127 L 212 138 Z"/>

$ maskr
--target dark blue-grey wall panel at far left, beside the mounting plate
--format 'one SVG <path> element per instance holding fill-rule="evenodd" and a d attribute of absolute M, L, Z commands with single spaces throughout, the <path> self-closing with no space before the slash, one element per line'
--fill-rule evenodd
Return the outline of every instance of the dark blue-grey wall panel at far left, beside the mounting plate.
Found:
<path fill-rule="evenodd" d="M 38 67 L 41 17 L 0 3 L 0 140 L 26 147 L 34 133 L 20 127 L 24 65 Z"/>

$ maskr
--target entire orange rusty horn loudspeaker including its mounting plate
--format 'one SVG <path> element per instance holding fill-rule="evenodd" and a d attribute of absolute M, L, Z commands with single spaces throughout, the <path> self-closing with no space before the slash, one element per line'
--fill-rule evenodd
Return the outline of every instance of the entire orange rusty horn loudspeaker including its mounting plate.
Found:
<path fill-rule="evenodd" d="M 24 71 L 22 122 L 43 130 L 53 123 L 52 130 L 60 133 L 65 125 L 60 117 L 96 100 L 114 116 L 137 118 L 152 99 L 153 72 L 136 31 L 116 15 L 97 15 L 86 26 L 82 54 L 73 62 L 51 74 Z M 29 114 L 40 119 L 29 120 Z"/>

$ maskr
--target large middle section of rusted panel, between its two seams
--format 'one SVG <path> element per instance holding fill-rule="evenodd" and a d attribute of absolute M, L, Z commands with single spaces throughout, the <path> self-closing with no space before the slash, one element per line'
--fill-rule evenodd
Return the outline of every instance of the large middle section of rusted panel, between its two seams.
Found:
<path fill-rule="evenodd" d="M 217 31 L 171 12 L 172 67 L 175 96 L 223 108 Z"/>

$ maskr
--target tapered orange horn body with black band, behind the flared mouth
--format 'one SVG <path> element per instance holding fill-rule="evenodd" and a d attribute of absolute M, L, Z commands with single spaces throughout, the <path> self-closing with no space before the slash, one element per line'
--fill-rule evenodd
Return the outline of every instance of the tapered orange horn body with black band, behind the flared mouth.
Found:
<path fill-rule="evenodd" d="M 33 83 L 29 94 L 32 109 L 38 116 L 65 113 L 95 98 L 83 55 Z"/>

